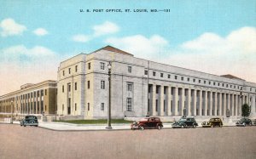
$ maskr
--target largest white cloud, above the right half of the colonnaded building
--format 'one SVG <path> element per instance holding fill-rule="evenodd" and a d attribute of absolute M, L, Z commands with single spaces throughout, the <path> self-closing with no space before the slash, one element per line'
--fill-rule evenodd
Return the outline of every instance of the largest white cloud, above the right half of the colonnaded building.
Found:
<path fill-rule="evenodd" d="M 242 27 L 226 37 L 204 33 L 183 43 L 164 61 L 216 75 L 233 74 L 256 82 L 256 28 Z"/>

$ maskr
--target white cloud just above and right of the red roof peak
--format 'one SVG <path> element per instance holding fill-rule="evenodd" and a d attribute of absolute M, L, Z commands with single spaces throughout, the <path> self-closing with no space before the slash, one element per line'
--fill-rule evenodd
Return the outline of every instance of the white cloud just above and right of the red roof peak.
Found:
<path fill-rule="evenodd" d="M 169 45 L 166 39 L 159 35 L 154 35 L 149 38 L 142 35 L 111 37 L 108 38 L 105 43 L 124 49 L 131 54 L 136 54 L 137 57 L 146 59 L 158 57 Z"/>

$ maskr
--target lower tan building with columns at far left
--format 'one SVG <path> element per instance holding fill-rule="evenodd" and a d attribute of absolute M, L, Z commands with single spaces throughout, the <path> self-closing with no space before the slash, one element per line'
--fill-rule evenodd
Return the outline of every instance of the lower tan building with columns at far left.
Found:
<path fill-rule="evenodd" d="M 12 116 L 55 115 L 56 93 L 56 81 L 27 83 L 20 86 L 20 90 L 0 96 L 0 113 Z"/>

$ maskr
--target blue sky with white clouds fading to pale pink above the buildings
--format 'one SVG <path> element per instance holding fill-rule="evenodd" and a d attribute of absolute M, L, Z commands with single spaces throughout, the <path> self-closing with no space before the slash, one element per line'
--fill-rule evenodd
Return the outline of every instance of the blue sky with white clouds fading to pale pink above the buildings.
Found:
<path fill-rule="evenodd" d="M 93 13 L 93 9 L 104 12 Z M 106 13 L 106 9 L 123 12 Z M 148 13 L 133 9 L 148 9 Z M 150 13 L 150 9 L 170 12 Z M 0 23 L 0 76 L 4 78 L 0 84 L 19 77 L 0 94 L 25 82 L 56 79 L 61 60 L 108 44 L 136 57 L 256 82 L 252 73 L 256 69 L 252 46 L 256 43 L 256 1 L 2 0 Z"/>

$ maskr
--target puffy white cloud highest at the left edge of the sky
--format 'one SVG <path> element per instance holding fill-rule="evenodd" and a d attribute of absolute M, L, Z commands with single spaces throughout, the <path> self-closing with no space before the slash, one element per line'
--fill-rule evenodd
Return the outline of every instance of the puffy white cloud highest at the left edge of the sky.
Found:
<path fill-rule="evenodd" d="M 26 26 L 22 26 L 16 23 L 13 19 L 2 20 L 0 23 L 0 27 L 2 28 L 2 37 L 22 35 L 23 31 L 26 31 Z"/>

